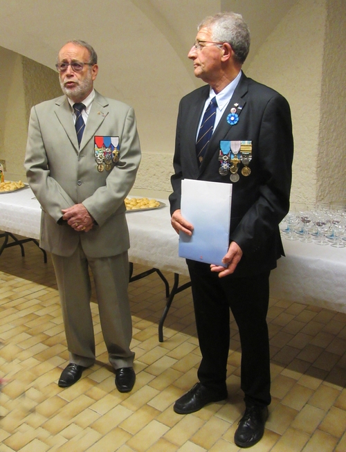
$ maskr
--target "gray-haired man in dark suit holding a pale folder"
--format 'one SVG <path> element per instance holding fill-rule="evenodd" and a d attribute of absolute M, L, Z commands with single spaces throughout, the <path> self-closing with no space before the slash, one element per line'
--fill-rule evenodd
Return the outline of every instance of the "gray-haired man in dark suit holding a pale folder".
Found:
<path fill-rule="evenodd" d="M 235 432 L 240 447 L 262 438 L 271 403 L 268 278 L 283 255 L 278 224 L 289 210 L 293 159 L 288 103 L 242 72 L 249 45 L 241 15 L 219 13 L 199 25 L 188 57 L 207 85 L 181 100 L 170 195 L 172 226 L 191 235 L 193 225 L 180 210 L 181 180 L 233 183 L 226 268 L 188 260 L 202 359 L 199 383 L 174 410 L 193 413 L 226 399 L 231 309 L 242 345 L 246 405 Z"/>

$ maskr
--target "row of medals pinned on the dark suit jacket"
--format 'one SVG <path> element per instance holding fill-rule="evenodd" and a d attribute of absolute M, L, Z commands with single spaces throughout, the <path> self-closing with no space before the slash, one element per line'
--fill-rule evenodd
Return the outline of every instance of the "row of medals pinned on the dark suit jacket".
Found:
<path fill-rule="evenodd" d="M 244 165 L 242 168 L 243 176 L 247 177 L 251 174 L 251 169 L 248 168 L 248 164 L 252 159 L 252 145 L 251 142 L 250 144 L 243 144 L 241 141 L 231 141 L 230 143 L 233 144 L 230 145 L 228 154 L 220 150 L 219 161 L 221 166 L 219 168 L 219 174 L 221 176 L 227 176 L 228 172 L 230 172 L 230 181 L 237 182 L 239 181 L 238 165 L 240 162 Z"/>

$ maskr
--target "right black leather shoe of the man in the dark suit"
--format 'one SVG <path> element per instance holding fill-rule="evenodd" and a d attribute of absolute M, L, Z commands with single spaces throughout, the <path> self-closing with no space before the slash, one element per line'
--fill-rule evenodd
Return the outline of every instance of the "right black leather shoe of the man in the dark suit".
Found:
<path fill-rule="evenodd" d="M 266 419 L 268 419 L 268 407 L 247 406 L 235 432 L 235 444 L 239 447 L 251 447 L 259 442 L 264 434 Z"/>

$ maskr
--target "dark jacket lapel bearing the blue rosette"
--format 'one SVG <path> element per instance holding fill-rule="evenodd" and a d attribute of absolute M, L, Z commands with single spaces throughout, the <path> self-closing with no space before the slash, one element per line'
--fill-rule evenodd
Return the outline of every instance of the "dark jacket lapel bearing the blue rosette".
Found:
<path fill-rule="evenodd" d="M 206 154 L 199 168 L 200 174 L 206 168 L 208 168 L 208 164 L 210 163 L 212 157 L 215 155 L 215 152 L 219 152 L 219 141 L 224 140 L 226 136 L 228 136 L 228 140 L 230 140 L 233 130 L 236 130 L 238 123 L 242 120 L 241 114 L 246 104 L 247 92 L 248 92 L 248 80 L 246 78 L 246 75 L 242 73 L 242 78 L 239 80 L 237 88 L 235 89 L 235 92 L 233 93 L 233 96 L 230 99 L 230 102 L 228 103 L 224 111 L 224 114 L 221 116 L 221 119 L 219 120 L 219 124 L 217 125 L 215 132 L 212 134 L 212 138 L 210 139 L 210 142 L 208 144 Z M 227 122 L 227 116 L 230 114 L 230 109 L 233 107 L 237 109 L 237 115 L 239 116 L 239 120 L 237 124 L 230 125 Z"/>

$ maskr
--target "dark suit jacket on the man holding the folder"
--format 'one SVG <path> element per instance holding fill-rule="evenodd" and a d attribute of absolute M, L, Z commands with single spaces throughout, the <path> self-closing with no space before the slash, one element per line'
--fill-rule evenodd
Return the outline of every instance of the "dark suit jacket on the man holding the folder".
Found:
<path fill-rule="evenodd" d="M 171 213 L 180 208 L 182 179 L 231 183 L 229 174 L 219 174 L 221 140 L 252 141 L 251 174 L 244 177 L 240 163 L 240 179 L 233 183 L 230 242 L 237 242 L 244 254 L 232 277 L 262 273 L 274 269 L 277 259 L 284 255 L 278 225 L 289 210 L 291 189 L 293 136 L 289 104 L 279 93 L 243 73 L 199 168 L 195 142 L 209 90 L 208 85 L 196 89 L 179 105 Z M 235 125 L 227 122 L 232 107 L 239 115 Z"/>

